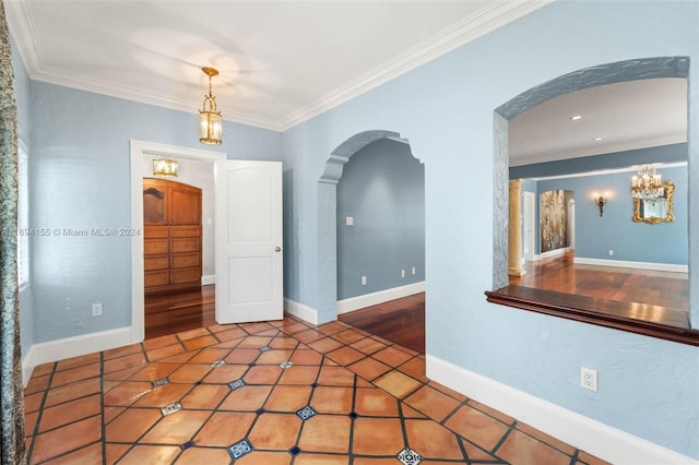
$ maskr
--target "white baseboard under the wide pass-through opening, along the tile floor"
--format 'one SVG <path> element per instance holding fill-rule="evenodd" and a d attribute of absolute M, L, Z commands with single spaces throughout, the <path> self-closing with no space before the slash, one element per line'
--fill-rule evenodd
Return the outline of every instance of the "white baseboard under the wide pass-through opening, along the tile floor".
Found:
<path fill-rule="evenodd" d="M 427 378 L 616 465 L 699 461 L 427 355 Z"/>

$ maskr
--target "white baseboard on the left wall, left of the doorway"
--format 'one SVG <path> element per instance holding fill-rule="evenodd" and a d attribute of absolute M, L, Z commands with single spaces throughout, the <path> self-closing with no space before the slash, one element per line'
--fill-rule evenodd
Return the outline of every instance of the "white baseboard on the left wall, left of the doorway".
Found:
<path fill-rule="evenodd" d="M 24 385 L 32 378 L 34 367 L 49 361 L 63 360 L 71 357 L 108 350 L 132 344 L 131 326 L 100 331 L 75 337 L 33 344 L 22 358 L 22 380 Z"/>

